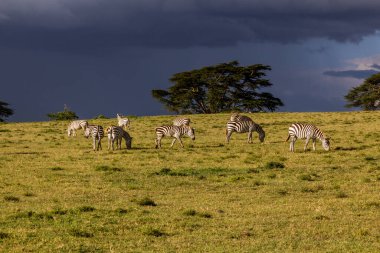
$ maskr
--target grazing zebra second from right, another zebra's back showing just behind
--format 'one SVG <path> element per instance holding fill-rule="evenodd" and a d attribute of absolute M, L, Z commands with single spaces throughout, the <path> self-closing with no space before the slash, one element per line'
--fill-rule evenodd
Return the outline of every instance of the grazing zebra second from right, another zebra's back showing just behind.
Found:
<path fill-rule="evenodd" d="M 259 134 L 261 142 L 264 141 L 265 132 L 259 124 L 253 121 L 229 121 L 227 122 L 226 129 L 226 141 L 230 142 L 230 138 L 233 132 L 248 133 L 248 143 L 252 143 L 252 132 L 256 131 Z"/>

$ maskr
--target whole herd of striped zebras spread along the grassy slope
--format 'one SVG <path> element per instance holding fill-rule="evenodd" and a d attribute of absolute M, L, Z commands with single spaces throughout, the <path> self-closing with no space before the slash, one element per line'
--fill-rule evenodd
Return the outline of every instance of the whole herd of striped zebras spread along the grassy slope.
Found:
<path fill-rule="evenodd" d="M 106 134 L 108 137 L 108 150 L 112 148 L 114 150 L 114 144 L 116 141 L 116 149 L 121 149 L 122 139 L 125 140 L 126 148 L 132 148 L 132 137 L 129 135 L 124 128 L 130 128 L 130 120 L 128 118 L 122 117 L 117 114 L 118 126 L 110 126 L 106 129 Z M 188 136 L 192 140 L 195 140 L 195 129 L 190 126 L 191 120 L 189 118 L 176 118 L 173 120 L 172 125 L 163 125 L 155 129 L 156 133 L 156 149 L 161 148 L 161 139 L 165 136 L 172 137 L 173 141 L 170 145 L 172 147 L 174 143 L 178 140 L 181 147 L 183 148 L 183 143 L 181 140 L 182 136 Z M 103 127 L 100 125 L 89 125 L 85 120 L 75 120 L 71 122 L 67 128 L 68 136 L 75 136 L 76 130 L 83 129 L 84 136 L 89 138 L 92 137 L 93 149 L 102 149 L 101 140 L 104 137 Z M 226 142 L 229 143 L 231 135 L 233 132 L 236 133 L 248 133 L 248 143 L 252 143 L 252 134 L 257 132 L 260 142 L 264 142 L 265 131 L 263 128 L 255 123 L 250 117 L 240 115 L 239 113 L 233 113 L 230 120 L 227 122 L 226 126 Z M 288 138 L 286 142 L 290 139 L 290 151 L 294 152 L 294 144 L 297 139 L 306 139 L 304 151 L 307 149 L 307 145 L 310 140 L 313 142 L 313 150 L 315 150 L 316 140 L 322 142 L 322 147 L 324 150 L 330 150 L 330 139 L 326 137 L 323 132 L 314 125 L 294 123 L 289 127 Z"/>

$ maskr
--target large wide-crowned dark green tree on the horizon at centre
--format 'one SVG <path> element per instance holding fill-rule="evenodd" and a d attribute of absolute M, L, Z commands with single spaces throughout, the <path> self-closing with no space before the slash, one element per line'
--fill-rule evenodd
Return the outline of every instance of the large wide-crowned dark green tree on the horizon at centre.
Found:
<path fill-rule="evenodd" d="M 275 111 L 279 98 L 258 90 L 272 84 L 265 79 L 270 66 L 239 66 L 237 61 L 174 74 L 168 90 L 152 90 L 152 96 L 176 113 L 223 111 Z"/>

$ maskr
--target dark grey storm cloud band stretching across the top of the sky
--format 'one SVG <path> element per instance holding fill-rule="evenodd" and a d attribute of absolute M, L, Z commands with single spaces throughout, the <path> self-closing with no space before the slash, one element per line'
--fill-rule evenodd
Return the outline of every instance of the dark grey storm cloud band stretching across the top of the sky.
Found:
<path fill-rule="evenodd" d="M 359 41 L 380 30 L 378 13 L 373 0 L 2 0 L 0 46 L 82 51 Z"/>

